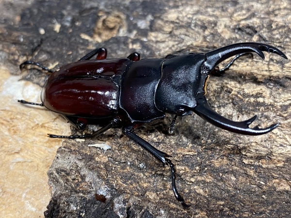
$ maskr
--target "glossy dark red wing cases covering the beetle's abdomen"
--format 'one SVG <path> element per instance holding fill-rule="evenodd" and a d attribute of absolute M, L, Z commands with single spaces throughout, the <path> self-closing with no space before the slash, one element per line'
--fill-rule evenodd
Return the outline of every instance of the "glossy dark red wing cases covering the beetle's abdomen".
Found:
<path fill-rule="evenodd" d="M 78 117 L 111 117 L 118 113 L 121 75 L 131 63 L 122 60 L 67 64 L 47 80 L 41 100 L 52 111 Z"/>

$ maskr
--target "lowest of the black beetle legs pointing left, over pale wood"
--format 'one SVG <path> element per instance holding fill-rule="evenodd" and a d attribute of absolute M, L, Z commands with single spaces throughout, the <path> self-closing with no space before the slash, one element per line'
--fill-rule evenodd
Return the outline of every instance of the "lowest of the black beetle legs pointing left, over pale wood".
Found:
<path fill-rule="evenodd" d="M 81 135 L 81 136 L 77 136 L 77 135 L 71 135 L 71 136 L 59 136 L 59 135 L 52 135 L 52 134 L 48 134 L 49 138 L 65 138 L 65 139 L 94 139 L 97 136 L 101 135 L 102 133 L 106 132 L 108 129 L 110 128 L 114 128 L 114 127 L 118 127 L 120 125 L 120 123 L 122 123 L 122 119 L 120 116 L 116 116 L 112 119 L 112 121 L 107 124 L 104 125 L 103 127 L 101 127 L 100 129 L 98 129 L 96 132 L 92 133 L 92 134 L 85 134 L 85 135 Z"/>

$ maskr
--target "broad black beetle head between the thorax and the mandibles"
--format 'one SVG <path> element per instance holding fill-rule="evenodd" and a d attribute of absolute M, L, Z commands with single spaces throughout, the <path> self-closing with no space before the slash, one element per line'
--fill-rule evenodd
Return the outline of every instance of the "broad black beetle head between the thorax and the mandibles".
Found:
<path fill-rule="evenodd" d="M 197 104 L 196 94 L 201 88 L 200 68 L 204 61 L 205 55 L 188 54 L 163 62 L 162 76 L 155 95 L 158 109 L 175 114 L 183 108 L 183 115 L 192 113 Z M 202 85 L 204 86 L 204 82 Z"/>

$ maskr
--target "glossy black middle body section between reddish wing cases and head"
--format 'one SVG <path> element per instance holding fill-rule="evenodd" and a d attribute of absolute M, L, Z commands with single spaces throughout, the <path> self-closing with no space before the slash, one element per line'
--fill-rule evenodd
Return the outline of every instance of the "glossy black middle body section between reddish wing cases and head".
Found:
<path fill-rule="evenodd" d="M 156 107 L 156 90 L 165 59 L 143 59 L 132 62 L 123 75 L 119 106 L 131 122 L 150 122 L 165 113 Z"/>

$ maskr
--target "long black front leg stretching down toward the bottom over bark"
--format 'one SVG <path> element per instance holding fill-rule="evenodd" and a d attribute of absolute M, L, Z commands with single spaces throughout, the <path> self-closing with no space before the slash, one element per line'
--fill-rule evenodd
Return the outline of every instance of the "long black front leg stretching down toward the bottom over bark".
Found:
<path fill-rule="evenodd" d="M 139 124 L 137 124 L 139 125 Z M 176 187 L 176 174 L 175 174 L 175 169 L 174 169 L 174 164 L 170 159 L 167 157 L 170 157 L 166 153 L 156 149 L 154 146 L 152 146 L 150 143 L 148 143 L 146 140 L 143 140 L 139 136 L 137 136 L 133 131 L 135 130 L 136 126 L 134 125 L 129 125 L 125 126 L 122 129 L 122 133 L 129 137 L 129 139 L 133 140 L 136 142 L 138 145 L 142 146 L 146 151 L 148 151 L 150 154 L 152 154 L 157 160 L 159 160 L 162 165 L 164 166 L 169 165 L 171 168 L 171 175 L 172 175 L 172 189 L 175 195 L 175 198 L 178 200 L 178 202 L 181 202 L 181 204 L 185 207 L 189 207 L 191 204 L 187 204 L 183 197 L 179 194 L 178 189 Z"/>

